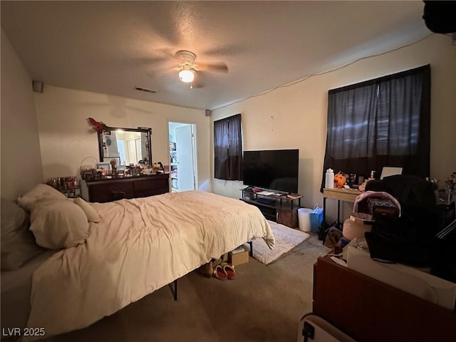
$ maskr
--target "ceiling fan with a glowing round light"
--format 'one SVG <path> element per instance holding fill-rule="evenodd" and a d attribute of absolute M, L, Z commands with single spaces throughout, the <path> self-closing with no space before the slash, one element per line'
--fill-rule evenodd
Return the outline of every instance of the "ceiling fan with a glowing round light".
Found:
<path fill-rule="evenodd" d="M 191 51 L 181 50 L 176 52 L 177 66 L 179 68 L 180 81 L 190 83 L 190 89 L 193 88 L 192 83 L 195 80 L 196 71 L 217 71 L 228 73 L 227 64 L 219 63 L 195 63 L 197 56 Z"/>

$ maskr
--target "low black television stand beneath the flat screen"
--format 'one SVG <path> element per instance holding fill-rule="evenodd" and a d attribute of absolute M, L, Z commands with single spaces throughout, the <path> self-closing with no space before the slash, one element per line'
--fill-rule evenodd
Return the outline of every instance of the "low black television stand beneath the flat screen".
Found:
<path fill-rule="evenodd" d="M 242 201 L 257 207 L 266 219 L 287 227 L 298 228 L 298 209 L 301 207 L 301 195 L 297 198 L 281 195 L 261 195 L 252 188 L 242 190 Z M 298 201 L 298 205 L 295 204 Z"/>

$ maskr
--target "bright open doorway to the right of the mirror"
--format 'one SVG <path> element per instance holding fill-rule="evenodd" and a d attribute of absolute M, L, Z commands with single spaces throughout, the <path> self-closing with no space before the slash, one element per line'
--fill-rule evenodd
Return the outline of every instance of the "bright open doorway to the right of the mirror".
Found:
<path fill-rule="evenodd" d="M 197 189 L 195 125 L 168 123 L 170 137 L 171 192 Z"/>

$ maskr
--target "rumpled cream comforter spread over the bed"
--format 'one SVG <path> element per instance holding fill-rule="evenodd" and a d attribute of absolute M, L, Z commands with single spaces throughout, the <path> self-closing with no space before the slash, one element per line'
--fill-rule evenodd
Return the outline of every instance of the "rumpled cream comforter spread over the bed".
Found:
<path fill-rule="evenodd" d="M 89 326 L 254 237 L 274 245 L 257 207 L 209 192 L 93 206 L 102 221 L 86 243 L 33 274 L 28 326 L 46 336 Z"/>

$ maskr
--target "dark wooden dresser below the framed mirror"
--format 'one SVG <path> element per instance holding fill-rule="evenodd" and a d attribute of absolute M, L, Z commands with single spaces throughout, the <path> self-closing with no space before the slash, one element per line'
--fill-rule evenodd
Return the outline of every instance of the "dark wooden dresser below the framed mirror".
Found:
<path fill-rule="evenodd" d="M 122 177 L 81 182 L 81 195 L 88 202 L 111 202 L 170 192 L 170 175 Z"/>

